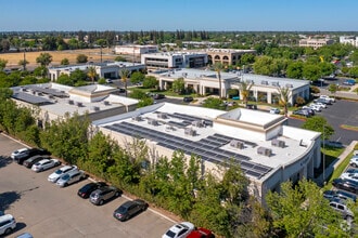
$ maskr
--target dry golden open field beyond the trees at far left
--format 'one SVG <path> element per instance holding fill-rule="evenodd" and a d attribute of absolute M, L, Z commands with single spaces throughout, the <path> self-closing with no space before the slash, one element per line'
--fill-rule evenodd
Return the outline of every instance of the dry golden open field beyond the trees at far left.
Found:
<path fill-rule="evenodd" d="M 41 53 L 49 53 L 52 55 L 51 65 L 60 65 L 63 58 L 68 58 L 69 64 L 76 64 L 78 54 L 85 54 L 88 56 L 88 62 L 101 62 L 100 49 L 86 49 L 86 50 L 73 50 L 73 51 L 39 51 L 39 52 L 26 52 L 26 61 L 29 62 L 28 66 L 37 66 L 36 58 Z M 102 49 L 102 61 L 113 61 L 117 55 L 112 52 L 112 49 Z M 18 62 L 24 60 L 24 52 L 21 53 L 1 53 L 0 58 L 7 60 L 7 67 L 18 67 Z"/>

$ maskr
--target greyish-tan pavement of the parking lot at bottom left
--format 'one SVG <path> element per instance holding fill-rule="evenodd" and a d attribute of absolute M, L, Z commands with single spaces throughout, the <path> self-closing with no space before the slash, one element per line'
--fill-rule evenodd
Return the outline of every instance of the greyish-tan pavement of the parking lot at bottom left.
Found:
<path fill-rule="evenodd" d="M 12 162 L 11 153 L 22 147 L 0 134 L 0 210 L 17 221 L 10 237 L 25 232 L 34 237 L 161 237 L 174 224 L 151 209 L 127 222 L 117 221 L 113 211 L 126 201 L 124 197 L 93 206 L 77 196 L 88 180 L 60 188 L 47 181 L 57 168 L 35 173 Z"/>

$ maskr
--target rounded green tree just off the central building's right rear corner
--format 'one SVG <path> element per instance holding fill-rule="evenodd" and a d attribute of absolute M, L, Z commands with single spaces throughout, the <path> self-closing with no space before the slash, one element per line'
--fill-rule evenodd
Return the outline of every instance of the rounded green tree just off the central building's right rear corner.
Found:
<path fill-rule="evenodd" d="M 334 133 L 334 129 L 327 122 L 325 118 L 321 116 L 308 118 L 302 128 L 320 132 L 323 141 L 329 140 Z"/>

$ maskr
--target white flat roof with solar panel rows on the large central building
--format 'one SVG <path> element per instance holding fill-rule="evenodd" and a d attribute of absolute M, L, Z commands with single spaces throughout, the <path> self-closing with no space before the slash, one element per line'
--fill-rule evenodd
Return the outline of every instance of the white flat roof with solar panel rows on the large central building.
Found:
<path fill-rule="evenodd" d="M 250 121 L 260 124 L 276 120 L 276 115 L 268 113 L 240 109 L 242 116 L 238 121 Z M 215 127 L 216 118 L 225 118 L 234 114 L 222 110 L 161 103 L 136 111 L 93 121 L 98 127 L 112 130 L 114 133 L 139 136 L 172 150 L 182 149 L 184 153 L 200 155 L 204 160 L 218 162 L 222 158 L 235 158 L 243 171 L 256 180 L 263 180 L 274 169 L 290 164 L 307 153 L 310 143 L 319 136 L 317 132 L 281 125 L 281 133 L 274 140 L 282 141 L 284 147 L 272 146 L 272 140 L 259 140 L 242 133 L 242 128 L 230 127 L 222 131 Z M 259 121 L 260 118 L 264 121 Z M 153 122 L 156 121 L 156 122 Z M 205 125 L 199 125 L 204 122 Z M 214 127 L 213 127 L 214 125 Z M 191 131 L 194 135 L 191 135 Z M 248 133 L 250 134 L 250 133 Z M 231 141 L 243 143 L 239 149 L 230 145 Z M 302 142 L 308 146 L 302 146 Z M 259 155 L 258 148 L 271 149 L 271 156 Z"/>

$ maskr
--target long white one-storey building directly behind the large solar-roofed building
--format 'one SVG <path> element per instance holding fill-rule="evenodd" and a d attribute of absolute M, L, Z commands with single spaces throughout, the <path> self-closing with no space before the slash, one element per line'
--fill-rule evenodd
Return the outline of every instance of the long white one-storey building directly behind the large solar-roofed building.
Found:
<path fill-rule="evenodd" d="M 201 70 L 201 69 L 171 69 L 157 70 L 149 72 L 158 80 L 161 89 L 168 89 L 170 84 L 183 78 L 186 88 L 193 89 L 201 95 L 219 94 L 219 79 L 216 71 Z M 279 102 L 279 88 L 289 88 L 291 105 L 294 105 L 298 96 L 304 100 L 309 98 L 309 82 L 307 80 L 274 78 L 260 75 L 252 75 L 241 72 L 221 72 L 221 96 L 227 97 L 230 89 L 238 89 L 240 91 L 240 82 L 253 83 L 250 91 L 250 100 L 260 103 L 277 104 Z M 242 95 L 240 95 L 242 98 Z"/>

